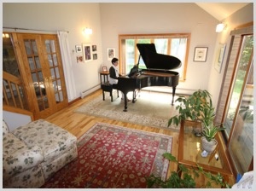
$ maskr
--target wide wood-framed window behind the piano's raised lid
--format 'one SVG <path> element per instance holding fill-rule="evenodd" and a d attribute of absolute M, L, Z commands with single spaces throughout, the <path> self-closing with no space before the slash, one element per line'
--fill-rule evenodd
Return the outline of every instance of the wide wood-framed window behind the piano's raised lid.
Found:
<path fill-rule="evenodd" d="M 179 73 L 180 80 L 186 79 L 186 68 L 189 55 L 190 34 L 152 34 L 152 35 L 119 35 L 120 44 L 120 71 L 130 72 L 131 68 L 139 62 L 139 68 L 147 68 L 143 59 L 139 59 L 137 43 L 154 43 L 156 52 L 163 55 L 177 57 L 182 66 L 172 71 Z"/>

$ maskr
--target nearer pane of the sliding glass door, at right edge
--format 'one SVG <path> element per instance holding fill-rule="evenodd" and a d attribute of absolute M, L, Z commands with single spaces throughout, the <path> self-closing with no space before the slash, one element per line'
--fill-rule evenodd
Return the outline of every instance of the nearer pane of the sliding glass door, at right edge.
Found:
<path fill-rule="evenodd" d="M 250 72 L 253 74 L 253 65 Z M 229 150 L 237 171 L 243 174 L 253 159 L 253 84 L 248 81 L 238 111 Z"/>

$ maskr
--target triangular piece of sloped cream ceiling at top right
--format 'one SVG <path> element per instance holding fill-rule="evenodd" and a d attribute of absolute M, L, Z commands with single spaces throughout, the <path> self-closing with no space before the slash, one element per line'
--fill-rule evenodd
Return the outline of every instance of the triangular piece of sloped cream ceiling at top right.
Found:
<path fill-rule="evenodd" d="M 243 8 L 248 3 L 196 3 L 201 9 L 221 21 Z"/>

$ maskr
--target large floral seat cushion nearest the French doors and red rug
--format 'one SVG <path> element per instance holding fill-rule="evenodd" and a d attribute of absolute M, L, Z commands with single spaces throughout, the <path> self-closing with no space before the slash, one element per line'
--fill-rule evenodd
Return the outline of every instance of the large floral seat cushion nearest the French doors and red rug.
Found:
<path fill-rule="evenodd" d="M 44 161 L 58 158 L 73 145 L 77 144 L 76 136 L 44 119 L 38 119 L 20 126 L 13 130 L 12 133 L 26 142 L 28 146 L 38 145 L 42 148 Z"/>

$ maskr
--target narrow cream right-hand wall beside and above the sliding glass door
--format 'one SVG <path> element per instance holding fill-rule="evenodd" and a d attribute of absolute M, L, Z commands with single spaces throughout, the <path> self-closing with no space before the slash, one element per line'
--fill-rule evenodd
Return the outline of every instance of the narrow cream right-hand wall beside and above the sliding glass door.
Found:
<path fill-rule="evenodd" d="M 212 94 L 212 102 L 216 107 L 218 104 L 218 96 L 220 93 L 221 84 L 224 78 L 224 68 L 226 67 L 227 53 L 230 49 L 230 31 L 234 30 L 237 26 L 241 26 L 253 21 L 253 3 L 248 4 L 244 8 L 238 10 L 235 14 L 223 20 L 223 23 L 227 25 L 223 32 L 218 33 L 216 40 L 216 47 L 218 43 L 226 44 L 226 51 L 224 55 L 223 66 L 221 72 L 218 73 L 214 68 L 214 61 L 212 60 L 211 72 L 209 74 L 208 90 Z M 217 53 L 214 53 L 214 55 Z"/>

